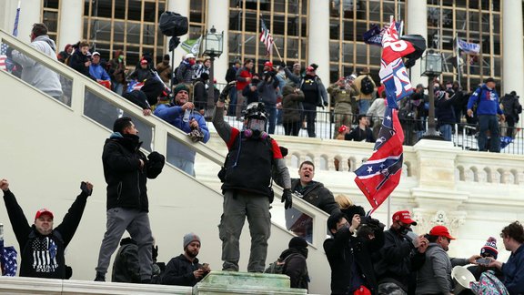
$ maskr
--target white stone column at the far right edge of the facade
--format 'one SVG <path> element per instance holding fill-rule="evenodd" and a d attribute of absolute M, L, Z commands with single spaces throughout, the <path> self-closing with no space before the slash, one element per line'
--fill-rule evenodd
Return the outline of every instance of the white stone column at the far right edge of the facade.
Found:
<path fill-rule="evenodd" d="M 524 46 L 522 43 L 522 1 L 506 0 L 502 6 L 502 91 L 515 90 L 517 95 L 524 97 Z M 519 69 L 519 70 L 516 70 Z M 520 102 L 522 103 L 522 102 Z M 519 120 L 522 127 L 522 120 Z"/>

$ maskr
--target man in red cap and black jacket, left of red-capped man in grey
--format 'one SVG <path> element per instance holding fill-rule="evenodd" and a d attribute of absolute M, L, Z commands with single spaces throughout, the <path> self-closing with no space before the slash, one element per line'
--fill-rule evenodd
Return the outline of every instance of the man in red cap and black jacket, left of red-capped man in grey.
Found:
<path fill-rule="evenodd" d="M 412 294 L 416 286 L 414 264 L 423 263 L 428 239 L 408 235 L 417 221 L 411 219 L 408 210 L 393 214 L 391 228 L 384 231 L 384 247 L 380 260 L 375 264 L 379 294 Z"/>

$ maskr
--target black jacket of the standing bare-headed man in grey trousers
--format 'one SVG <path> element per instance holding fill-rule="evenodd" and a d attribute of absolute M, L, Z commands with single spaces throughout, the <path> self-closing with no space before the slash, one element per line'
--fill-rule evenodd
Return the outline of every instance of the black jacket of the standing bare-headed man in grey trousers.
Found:
<path fill-rule="evenodd" d="M 107 183 L 107 209 L 117 207 L 149 211 L 147 178 L 154 179 L 164 168 L 164 156 L 153 152 L 149 159 L 139 150 L 135 135 L 116 132 L 106 139 L 102 163 Z M 140 169 L 140 159 L 144 168 Z"/>

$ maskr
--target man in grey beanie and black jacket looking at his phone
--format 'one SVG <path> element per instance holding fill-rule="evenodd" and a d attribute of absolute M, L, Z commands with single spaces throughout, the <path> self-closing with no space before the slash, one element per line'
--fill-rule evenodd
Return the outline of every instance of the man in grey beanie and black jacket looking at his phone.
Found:
<path fill-rule="evenodd" d="M 211 271 L 207 263 L 200 264 L 196 256 L 200 252 L 200 238 L 194 233 L 184 236 L 184 253 L 169 260 L 166 271 L 160 276 L 159 284 L 195 286 Z"/>

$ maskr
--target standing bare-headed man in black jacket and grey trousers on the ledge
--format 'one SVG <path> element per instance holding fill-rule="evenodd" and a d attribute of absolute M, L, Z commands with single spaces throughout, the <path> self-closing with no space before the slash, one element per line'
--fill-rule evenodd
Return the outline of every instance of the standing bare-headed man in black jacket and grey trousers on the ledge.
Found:
<path fill-rule="evenodd" d="M 138 244 L 140 280 L 151 281 L 151 247 L 147 178 L 154 179 L 164 168 L 165 158 L 157 152 L 146 156 L 140 151 L 140 138 L 129 117 L 116 119 L 114 133 L 106 139 L 102 163 L 107 183 L 107 228 L 100 246 L 96 281 L 105 281 L 111 255 L 127 230 Z"/>

